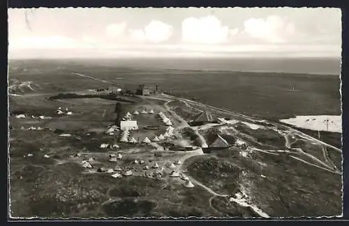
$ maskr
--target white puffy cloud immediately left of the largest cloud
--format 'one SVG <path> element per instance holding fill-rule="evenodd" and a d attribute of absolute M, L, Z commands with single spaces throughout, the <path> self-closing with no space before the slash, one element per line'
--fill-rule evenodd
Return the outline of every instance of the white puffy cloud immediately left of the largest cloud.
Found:
<path fill-rule="evenodd" d="M 130 29 L 131 38 L 136 41 L 163 42 L 173 33 L 172 26 L 152 20 L 144 29 Z"/>

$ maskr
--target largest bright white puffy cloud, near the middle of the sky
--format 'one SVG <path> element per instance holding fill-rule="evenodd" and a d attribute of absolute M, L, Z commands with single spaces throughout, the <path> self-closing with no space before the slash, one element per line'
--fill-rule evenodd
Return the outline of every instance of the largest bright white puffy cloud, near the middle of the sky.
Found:
<path fill-rule="evenodd" d="M 215 16 L 190 17 L 181 24 L 182 41 L 197 44 L 217 44 L 227 42 L 230 35 L 237 35 L 238 30 L 223 26 Z"/>

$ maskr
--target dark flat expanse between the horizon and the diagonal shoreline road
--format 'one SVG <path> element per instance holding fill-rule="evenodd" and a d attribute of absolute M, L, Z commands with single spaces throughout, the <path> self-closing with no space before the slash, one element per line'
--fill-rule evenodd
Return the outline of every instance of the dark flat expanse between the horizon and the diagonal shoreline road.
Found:
<path fill-rule="evenodd" d="M 27 71 L 17 73 L 19 68 Z M 57 70 L 48 72 L 52 68 Z M 46 83 L 80 88 L 81 77 L 72 72 L 113 81 L 130 90 L 139 84 L 154 89 L 158 85 L 172 95 L 269 120 L 341 115 L 340 58 L 10 60 L 9 79 L 43 81 L 47 77 Z"/>

